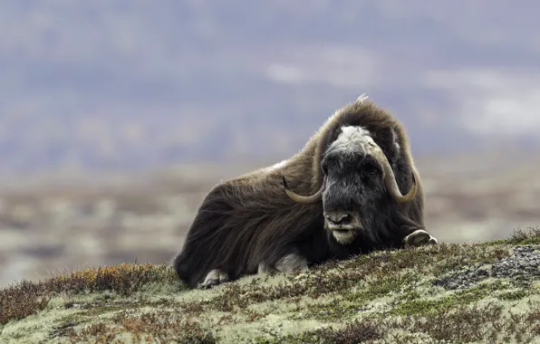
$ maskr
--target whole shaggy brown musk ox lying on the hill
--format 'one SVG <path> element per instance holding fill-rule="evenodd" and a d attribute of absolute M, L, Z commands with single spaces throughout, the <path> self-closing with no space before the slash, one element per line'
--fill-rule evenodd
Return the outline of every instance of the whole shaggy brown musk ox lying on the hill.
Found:
<path fill-rule="evenodd" d="M 190 288 L 437 244 L 405 129 L 366 100 L 336 110 L 302 150 L 214 186 L 171 262 Z"/>

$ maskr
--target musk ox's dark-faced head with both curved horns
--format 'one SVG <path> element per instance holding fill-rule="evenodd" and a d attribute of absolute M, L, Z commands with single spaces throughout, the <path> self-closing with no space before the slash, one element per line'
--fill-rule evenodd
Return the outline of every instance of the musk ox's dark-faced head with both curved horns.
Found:
<path fill-rule="evenodd" d="M 339 244 L 350 244 L 359 233 L 376 237 L 378 212 L 388 202 L 403 204 L 416 195 L 414 169 L 410 191 L 401 195 L 391 164 L 366 129 L 343 126 L 321 159 L 323 185 L 313 196 L 299 196 L 284 178 L 287 195 L 296 203 L 323 202 L 324 227 Z M 389 199 L 390 196 L 390 199 Z M 388 206 L 387 206 L 388 208 Z"/>

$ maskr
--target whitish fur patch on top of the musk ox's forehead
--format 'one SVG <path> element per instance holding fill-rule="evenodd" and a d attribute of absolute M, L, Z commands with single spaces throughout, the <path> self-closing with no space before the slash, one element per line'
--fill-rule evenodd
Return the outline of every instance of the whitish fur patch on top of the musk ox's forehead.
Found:
<path fill-rule="evenodd" d="M 344 126 L 342 127 L 342 133 L 333 141 L 327 153 L 336 151 L 340 153 L 368 152 L 376 147 L 377 144 L 371 138 L 368 130 L 359 126 Z"/>

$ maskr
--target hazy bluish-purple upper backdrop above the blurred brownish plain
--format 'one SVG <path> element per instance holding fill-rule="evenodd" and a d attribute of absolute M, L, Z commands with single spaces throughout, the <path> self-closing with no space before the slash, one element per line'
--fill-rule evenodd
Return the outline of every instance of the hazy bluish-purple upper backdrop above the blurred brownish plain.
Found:
<path fill-rule="evenodd" d="M 283 158 L 362 92 L 415 154 L 538 147 L 540 5 L 6 1 L 0 171 Z"/>

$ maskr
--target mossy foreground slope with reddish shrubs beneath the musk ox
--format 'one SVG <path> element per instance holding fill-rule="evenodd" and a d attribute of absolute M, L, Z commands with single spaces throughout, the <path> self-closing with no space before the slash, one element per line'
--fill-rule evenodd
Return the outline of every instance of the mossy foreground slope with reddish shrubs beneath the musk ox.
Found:
<path fill-rule="evenodd" d="M 204 291 L 165 265 L 121 264 L 0 291 L 0 341 L 537 342 L 539 263 L 540 228 Z"/>

